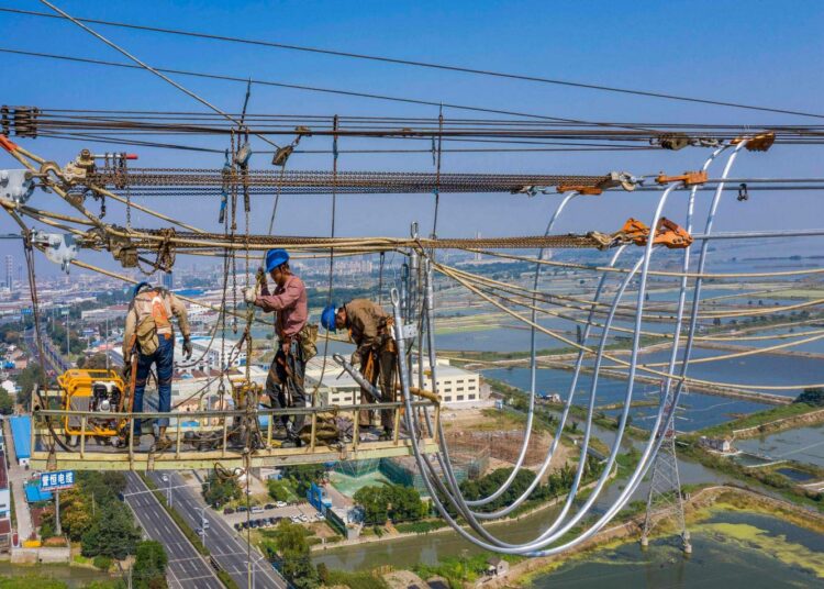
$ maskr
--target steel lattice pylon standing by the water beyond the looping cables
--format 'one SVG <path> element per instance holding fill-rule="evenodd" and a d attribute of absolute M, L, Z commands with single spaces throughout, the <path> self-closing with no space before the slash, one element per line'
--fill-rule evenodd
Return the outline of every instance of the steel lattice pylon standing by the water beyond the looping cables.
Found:
<path fill-rule="evenodd" d="M 661 402 L 665 412 L 672 407 L 673 387 L 661 385 Z M 641 533 L 641 545 L 649 545 L 649 534 L 653 529 L 666 521 L 672 520 L 676 530 L 680 530 L 681 544 L 686 554 L 692 553 L 690 533 L 683 516 L 683 497 L 681 496 L 681 479 L 678 475 L 678 458 L 676 456 L 675 411 L 669 421 L 661 424 L 656 438 L 664 436 L 658 454 L 653 463 L 653 478 L 647 494 L 647 510 L 644 516 L 644 529 Z"/>

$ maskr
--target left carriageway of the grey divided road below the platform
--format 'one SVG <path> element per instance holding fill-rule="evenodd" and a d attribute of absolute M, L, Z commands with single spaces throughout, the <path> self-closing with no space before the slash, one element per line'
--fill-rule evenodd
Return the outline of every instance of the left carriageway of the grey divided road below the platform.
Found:
<path fill-rule="evenodd" d="M 223 589 L 212 567 L 194 549 L 146 484 L 134 473 L 126 473 L 126 503 L 152 540 L 164 545 L 169 557 L 167 577 L 172 589 Z M 136 493 L 136 494 L 132 494 Z"/>

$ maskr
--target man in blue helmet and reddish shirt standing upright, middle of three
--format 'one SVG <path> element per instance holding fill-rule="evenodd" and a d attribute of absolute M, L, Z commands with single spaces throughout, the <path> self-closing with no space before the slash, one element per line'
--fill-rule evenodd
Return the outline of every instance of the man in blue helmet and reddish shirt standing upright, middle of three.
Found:
<path fill-rule="evenodd" d="M 244 300 L 259 307 L 267 313 L 275 313 L 275 327 L 278 334 L 278 349 L 271 360 L 266 377 L 266 392 L 271 407 L 305 407 L 307 396 L 303 389 L 303 376 L 310 349 L 314 349 L 318 337 L 316 326 L 309 323 L 309 304 L 307 287 L 292 274 L 289 267 L 289 253 L 286 249 L 266 252 L 266 274 L 275 282 L 275 290 L 269 292 L 268 280 L 263 271 L 258 275 L 258 285 L 244 289 Z M 301 445 L 299 433 L 303 426 L 303 415 L 281 418 L 283 433 L 296 446 Z M 280 432 L 276 432 L 279 434 Z"/>

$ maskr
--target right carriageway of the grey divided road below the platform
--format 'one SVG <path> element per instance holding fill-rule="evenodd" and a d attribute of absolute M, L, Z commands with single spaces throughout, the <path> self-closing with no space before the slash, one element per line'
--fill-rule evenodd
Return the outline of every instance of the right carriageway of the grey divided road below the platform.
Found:
<path fill-rule="evenodd" d="M 164 482 L 164 475 L 169 477 L 169 482 Z M 200 490 L 192 487 L 192 482 L 183 480 L 177 473 L 149 473 L 148 476 L 160 490 L 171 486 L 171 507 L 182 515 L 192 530 L 200 527 L 201 509 L 205 507 Z M 238 587 L 247 587 L 247 545 L 245 538 L 240 537 L 237 532 L 210 508 L 205 508 L 202 513 L 209 520 L 209 529 L 204 534 L 207 548 L 220 566 L 232 576 Z M 252 549 L 252 559 L 255 563 L 253 585 L 255 589 L 287 588 L 283 578 L 255 548 Z"/>

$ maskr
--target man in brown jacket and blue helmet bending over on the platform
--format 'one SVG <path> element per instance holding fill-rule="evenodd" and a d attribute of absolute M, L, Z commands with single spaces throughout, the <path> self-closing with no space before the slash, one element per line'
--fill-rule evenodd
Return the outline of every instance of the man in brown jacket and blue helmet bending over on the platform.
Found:
<path fill-rule="evenodd" d="M 391 319 L 383 309 L 368 300 L 354 299 L 341 307 L 334 313 L 334 307 L 330 305 L 322 315 L 323 326 L 330 331 L 346 329 L 349 338 L 357 348 L 352 355 L 352 364 L 360 365 L 360 371 L 369 382 L 380 384 L 381 401 L 394 402 L 394 375 L 398 364 L 398 347 L 391 334 Z M 360 390 L 360 402 L 368 403 L 371 397 Z M 358 416 L 359 427 L 371 426 L 371 411 L 360 411 Z M 380 412 L 380 423 L 383 426 L 383 436 L 392 437 L 394 425 L 392 410 Z"/>

